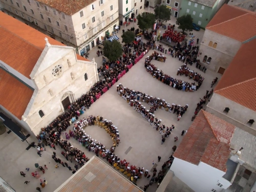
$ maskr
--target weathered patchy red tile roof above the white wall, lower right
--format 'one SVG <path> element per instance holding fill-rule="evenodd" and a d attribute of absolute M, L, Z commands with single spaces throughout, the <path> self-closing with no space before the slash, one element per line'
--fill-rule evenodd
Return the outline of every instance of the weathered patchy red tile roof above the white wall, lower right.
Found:
<path fill-rule="evenodd" d="M 235 126 L 200 111 L 182 139 L 174 157 L 198 165 L 200 161 L 225 172 Z M 214 146 L 217 151 L 214 151 Z"/>

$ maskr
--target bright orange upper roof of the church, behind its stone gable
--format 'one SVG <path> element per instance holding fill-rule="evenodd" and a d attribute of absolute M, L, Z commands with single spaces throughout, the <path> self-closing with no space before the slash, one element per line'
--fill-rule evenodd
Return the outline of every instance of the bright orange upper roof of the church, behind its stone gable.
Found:
<path fill-rule="evenodd" d="M 45 37 L 51 45 L 65 46 L 3 12 L 0 12 L 0 37 L 0 60 L 27 78 L 30 78 L 29 75 L 45 49 Z M 78 54 L 77 59 L 89 61 Z"/>

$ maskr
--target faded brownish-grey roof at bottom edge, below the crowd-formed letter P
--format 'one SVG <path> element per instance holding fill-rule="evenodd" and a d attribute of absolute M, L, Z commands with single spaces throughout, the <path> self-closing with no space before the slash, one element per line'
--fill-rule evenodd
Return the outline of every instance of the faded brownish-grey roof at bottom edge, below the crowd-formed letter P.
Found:
<path fill-rule="evenodd" d="M 113 167 L 94 156 L 54 192 L 143 192 Z"/>

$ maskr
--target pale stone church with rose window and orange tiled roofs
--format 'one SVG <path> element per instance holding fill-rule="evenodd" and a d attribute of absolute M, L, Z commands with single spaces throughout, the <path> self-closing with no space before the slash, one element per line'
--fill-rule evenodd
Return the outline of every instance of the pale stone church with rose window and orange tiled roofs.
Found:
<path fill-rule="evenodd" d="M 3 12 L 0 37 L 0 110 L 30 134 L 98 81 L 94 61 Z"/>

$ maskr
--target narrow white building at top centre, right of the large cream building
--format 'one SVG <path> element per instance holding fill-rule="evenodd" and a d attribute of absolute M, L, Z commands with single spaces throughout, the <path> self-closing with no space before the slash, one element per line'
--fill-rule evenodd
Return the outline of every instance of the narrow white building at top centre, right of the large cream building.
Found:
<path fill-rule="evenodd" d="M 119 20 L 124 22 L 129 22 L 132 13 L 134 17 L 140 13 L 144 12 L 144 0 L 118 0 L 119 7 Z"/>

